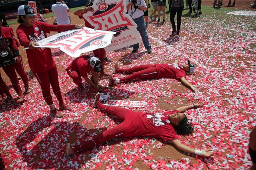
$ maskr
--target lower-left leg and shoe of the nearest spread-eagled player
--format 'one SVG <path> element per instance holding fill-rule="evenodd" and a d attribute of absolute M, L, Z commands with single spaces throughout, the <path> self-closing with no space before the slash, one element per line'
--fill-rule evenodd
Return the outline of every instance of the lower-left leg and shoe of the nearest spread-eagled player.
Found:
<path fill-rule="evenodd" d="M 74 154 L 77 152 L 82 152 L 82 151 L 85 151 L 88 149 L 92 149 L 92 148 L 100 145 L 101 143 L 108 141 L 109 139 L 122 137 L 123 133 L 124 133 L 124 123 L 120 123 L 119 125 L 100 133 L 93 139 L 89 139 L 88 141 L 85 141 L 84 143 L 81 143 L 80 145 L 77 145 L 75 147 L 69 146 L 69 148 L 67 145 L 66 152 L 68 155 L 70 155 L 70 154 Z"/>

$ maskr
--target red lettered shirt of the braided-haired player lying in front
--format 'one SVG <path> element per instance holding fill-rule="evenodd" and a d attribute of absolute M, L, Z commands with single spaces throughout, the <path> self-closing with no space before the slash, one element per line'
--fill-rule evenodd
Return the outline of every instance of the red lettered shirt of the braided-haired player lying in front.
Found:
<path fill-rule="evenodd" d="M 178 110 L 166 113 L 127 113 L 123 137 L 150 136 L 164 141 L 178 139 L 169 121 L 169 114 L 172 113 L 178 113 Z"/>

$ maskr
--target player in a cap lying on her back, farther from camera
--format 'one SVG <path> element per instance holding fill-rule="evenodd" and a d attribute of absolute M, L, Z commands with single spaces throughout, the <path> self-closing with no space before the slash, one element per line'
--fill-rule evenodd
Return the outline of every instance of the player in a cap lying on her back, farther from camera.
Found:
<path fill-rule="evenodd" d="M 140 66 L 134 66 L 132 68 L 121 69 L 117 67 L 117 63 L 114 67 L 114 73 L 125 73 L 131 74 L 130 76 L 124 78 L 112 78 L 112 75 L 109 75 L 109 85 L 118 84 L 118 83 L 127 83 L 136 78 L 139 79 L 153 79 L 153 78 L 176 78 L 184 83 L 186 86 L 190 87 L 193 91 L 196 91 L 196 86 L 190 84 L 186 80 L 186 74 L 193 74 L 195 70 L 194 64 L 190 64 L 188 61 L 187 64 L 180 65 L 178 61 L 175 61 L 173 64 L 145 64 Z"/>

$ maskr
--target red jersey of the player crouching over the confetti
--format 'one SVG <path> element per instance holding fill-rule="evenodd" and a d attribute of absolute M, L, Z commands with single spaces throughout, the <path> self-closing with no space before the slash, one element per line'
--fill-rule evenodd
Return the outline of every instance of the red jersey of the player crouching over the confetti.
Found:
<path fill-rule="evenodd" d="M 74 59 L 72 63 L 68 65 L 66 70 L 76 70 L 82 77 L 87 77 L 87 73 L 92 71 L 92 67 L 90 66 L 88 56 L 82 55 Z"/>

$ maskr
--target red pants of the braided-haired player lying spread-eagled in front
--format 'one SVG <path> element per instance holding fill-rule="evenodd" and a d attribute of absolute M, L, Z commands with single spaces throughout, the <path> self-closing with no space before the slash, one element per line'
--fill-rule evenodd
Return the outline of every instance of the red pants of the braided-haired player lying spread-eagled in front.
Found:
<path fill-rule="evenodd" d="M 96 147 L 96 146 L 100 145 L 101 143 L 103 143 L 103 142 L 105 142 L 109 139 L 113 139 L 113 138 L 117 138 L 117 137 L 123 137 L 124 128 L 125 128 L 123 121 L 126 117 L 126 114 L 127 113 L 134 113 L 134 111 L 131 111 L 129 109 L 119 108 L 119 107 L 114 107 L 114 106 L 105 106 L 103 104 L 98 104 L 98 107 L 102 111 L 105 111 L 108 114 L 111 114 L 111 115 L 114 115 L 114 116 L 118 117 L 118 119 L 120 119 L 120 121 L 122 121 L 122 123 L 120 123 L 116 127 L 113 127 L 111 129 L 108 129 L 108 130 L 100 133 L 99 135 L 97 135 L 93 139 L 90 139 L 90 140 L 76 146 L 75 149 L 74 149 L 74 152 L 82 152 L 84 150 L 92 149 L 93 147 Z M 126 137 L 128 137 L 128 136 L 126 135 Z M 132 137 L 132 134 L 131 134 L 130 137 Z"/>

